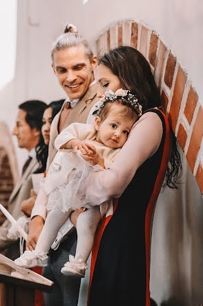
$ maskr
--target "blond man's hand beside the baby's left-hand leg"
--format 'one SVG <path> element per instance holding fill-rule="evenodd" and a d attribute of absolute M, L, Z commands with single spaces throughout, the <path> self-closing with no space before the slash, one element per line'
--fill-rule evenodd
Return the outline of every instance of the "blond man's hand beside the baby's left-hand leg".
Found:
<path fill-rule="evenodd" d="M 29 223 L 28 239 L 26 241 L 26 250 L 35 250 L 37 240 L 42 231 L 44 220 L 40 216 L 35 216 Z"/>

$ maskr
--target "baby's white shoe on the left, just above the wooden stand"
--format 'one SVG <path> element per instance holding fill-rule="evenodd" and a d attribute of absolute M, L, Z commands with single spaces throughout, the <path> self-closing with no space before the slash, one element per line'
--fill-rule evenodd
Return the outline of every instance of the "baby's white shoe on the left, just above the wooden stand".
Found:
<path fill-rule="evenodd" d="M 33 268 L 46 267 L 48 255 L 43 251 L 25 251 L 14 263 L 19 267 Z"/>

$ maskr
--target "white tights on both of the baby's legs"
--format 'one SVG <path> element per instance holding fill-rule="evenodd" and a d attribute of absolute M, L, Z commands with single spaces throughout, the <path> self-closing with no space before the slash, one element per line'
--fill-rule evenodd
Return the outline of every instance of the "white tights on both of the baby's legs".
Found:
<path fill-rule="evenodd" d="M 43 230 L 37 241 L 36 251 L 48 253 L 50 246 L 55 241 L 57 233 L 66 222 L 72 209 L 63 213 L 60 209 L 53 209 L 48 213 Z M 93 206 L 84 213 L 81 213 L 77 219 L 77 249 L 75 260 L 81 259 L 86 262 L 93 248 L 93 241 L 97 225 L 101 219 L 99 206 Z"/>

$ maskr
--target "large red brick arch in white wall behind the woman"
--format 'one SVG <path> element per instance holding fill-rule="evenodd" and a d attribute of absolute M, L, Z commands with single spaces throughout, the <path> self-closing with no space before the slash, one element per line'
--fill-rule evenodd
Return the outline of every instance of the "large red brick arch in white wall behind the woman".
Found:
<path fill-rule="evenodd" d="M 93 41 L 96 55 L 133 46 L 148 60 L 160 88 L 162 105 L 203 194 L 203 108 L 186 71 L 154 30 L 137 21 L 118 21 Z"/>

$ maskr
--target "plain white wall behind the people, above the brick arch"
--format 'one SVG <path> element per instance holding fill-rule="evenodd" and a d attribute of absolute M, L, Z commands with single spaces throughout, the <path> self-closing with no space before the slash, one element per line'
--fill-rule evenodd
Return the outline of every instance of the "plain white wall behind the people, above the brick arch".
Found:
<path fill-rule="evenodd" d="M 12 129 L 23 100 L 64 97 L 52 73 L 50 48 L 70 22 L 91 41 L 118 20 L 142 21 L 172 49 L 202 99 L 202 17 L 202 0 L 18 0 L 16 75 L 0 91 L 0 120 Z"/>

